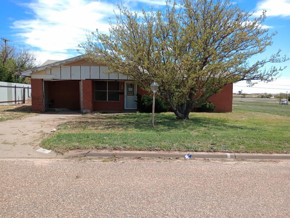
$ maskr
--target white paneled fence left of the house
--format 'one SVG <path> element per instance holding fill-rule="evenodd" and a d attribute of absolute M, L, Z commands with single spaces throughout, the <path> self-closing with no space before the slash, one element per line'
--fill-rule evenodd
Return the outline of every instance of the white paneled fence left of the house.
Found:
<path fill-rule="evenodd" d="M 31 98 L 31 85 L 0 82 L 0 105 L 25 104 Z"/>

